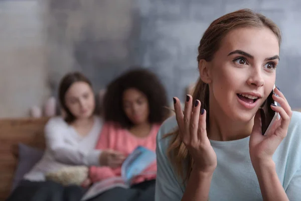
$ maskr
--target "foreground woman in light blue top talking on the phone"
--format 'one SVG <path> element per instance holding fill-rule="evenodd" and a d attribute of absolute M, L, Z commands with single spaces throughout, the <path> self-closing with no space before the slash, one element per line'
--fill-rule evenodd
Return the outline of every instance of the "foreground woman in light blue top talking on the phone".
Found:
<path fill-rule="evenodd" d="M 259 108 L 275 83 L 280 30 L 251 10 L 212 22 L 199 45 L 200 78 L 184 112 L 157 138 L 156 201 L 299 200 L 301 114 L 279 88 L 266 136 Z M 284 67 L 284 66 L 283 66 Z"/>

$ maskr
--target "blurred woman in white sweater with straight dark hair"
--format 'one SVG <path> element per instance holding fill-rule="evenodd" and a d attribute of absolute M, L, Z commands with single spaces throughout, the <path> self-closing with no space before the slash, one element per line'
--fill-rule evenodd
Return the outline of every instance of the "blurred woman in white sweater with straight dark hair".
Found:
<path fill-rule="evenodd" d="M 70 165 L 122 163 L 123 154 L 94 149 L 102 121 L 94 115 L 92 85 L 83 74 L 72 72 L 64 76 L 59 87 L 59 100 L 64 117 L 49 120 L 45 126 L 46 150 L 42 159 L 24 176 L 8 200 L 80 200 L 80 186 L 64 188 L 46 181 L 45 174 Z"/>

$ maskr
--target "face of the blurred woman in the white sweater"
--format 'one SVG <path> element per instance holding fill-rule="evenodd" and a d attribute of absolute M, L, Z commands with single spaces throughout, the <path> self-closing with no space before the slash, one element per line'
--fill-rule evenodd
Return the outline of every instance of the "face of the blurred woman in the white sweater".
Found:
<path fill-rule="evenodd" d="M 65 103 L 77 119 L 91 117 L 95 109 L 94 93 L 91 86 L 83 81 L 74 82 L 65 94 Z"/>

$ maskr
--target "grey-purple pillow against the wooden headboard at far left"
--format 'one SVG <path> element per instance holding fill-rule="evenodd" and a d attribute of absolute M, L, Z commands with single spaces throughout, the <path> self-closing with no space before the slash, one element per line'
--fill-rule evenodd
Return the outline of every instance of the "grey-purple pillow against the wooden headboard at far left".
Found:
<path fill-rule="evenodd" d="M 34 165 L 42 158 L 44 151 L 19 143 L 19 160 L 17 169 L 13 179 L 12 190 L 14 190 L 19 182 L 23 179 L 23 176 L 29 172 Z"/>

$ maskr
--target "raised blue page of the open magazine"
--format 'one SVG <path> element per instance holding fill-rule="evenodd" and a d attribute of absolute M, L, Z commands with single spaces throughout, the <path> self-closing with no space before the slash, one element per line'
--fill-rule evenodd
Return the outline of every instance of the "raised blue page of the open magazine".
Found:
<path fill-rule="evenodd" d="M 152 150 L 138 146 L 123 162 L 121 177 L 126 184 L 130 184 L 132 178 L 142 174 L 156 160 L 156 153 Z"/>

